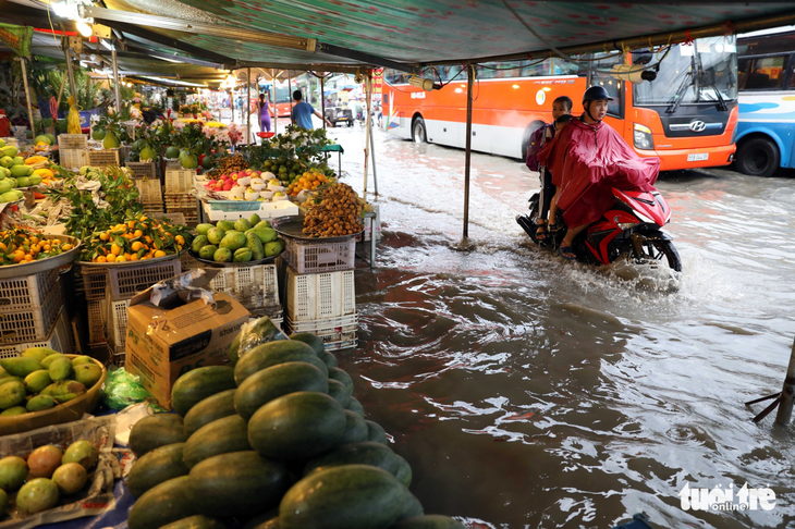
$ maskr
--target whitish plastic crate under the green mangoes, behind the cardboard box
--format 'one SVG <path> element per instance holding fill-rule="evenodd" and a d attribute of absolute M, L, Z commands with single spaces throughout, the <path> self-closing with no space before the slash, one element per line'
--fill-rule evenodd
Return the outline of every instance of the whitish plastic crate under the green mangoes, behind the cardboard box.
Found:
<path fill-rule="evenodd" d="M 276 264 L 217 270 L 219 273 L 210 283 L 213 291 L 225 292 L 254 315 L 281 317 Z"/>

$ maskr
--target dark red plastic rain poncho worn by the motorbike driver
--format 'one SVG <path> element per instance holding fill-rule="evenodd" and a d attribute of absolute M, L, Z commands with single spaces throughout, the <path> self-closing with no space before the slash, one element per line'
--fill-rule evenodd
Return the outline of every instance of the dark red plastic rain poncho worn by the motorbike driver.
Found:
<path fill-rule="evenodd" d="M 573 119 L 538 153 L 559 188 L 558 207 L 570 227 L 596 222 L 615 198 L 612 188 L 653 189 L 659 158 L 640 158 L 610 125 Z"/>

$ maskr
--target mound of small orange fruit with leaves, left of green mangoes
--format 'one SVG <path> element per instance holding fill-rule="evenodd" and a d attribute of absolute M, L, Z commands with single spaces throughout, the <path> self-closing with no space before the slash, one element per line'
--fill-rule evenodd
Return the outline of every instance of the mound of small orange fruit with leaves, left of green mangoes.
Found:
<path fill-rule="evenodd" d="M 137 216 L 85 239 L 81 261 L 127 262 L 179 254 L 191 234 L 187 227 Z"/>

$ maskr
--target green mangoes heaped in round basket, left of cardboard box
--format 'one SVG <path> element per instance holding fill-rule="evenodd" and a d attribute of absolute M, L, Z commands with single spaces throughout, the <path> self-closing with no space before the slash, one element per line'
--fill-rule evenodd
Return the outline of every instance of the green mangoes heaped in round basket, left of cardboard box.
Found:
<path fill-rule="evenodd" d="M 74 359 L 48 347 L 30 347 L 0 360 L 0 417 L 41 411 L 94 387 L 101 366 L 88 356 Z"/>

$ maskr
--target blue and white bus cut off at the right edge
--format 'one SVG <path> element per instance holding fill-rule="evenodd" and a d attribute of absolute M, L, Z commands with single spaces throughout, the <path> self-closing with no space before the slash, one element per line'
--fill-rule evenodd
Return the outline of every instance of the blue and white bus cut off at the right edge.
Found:
<path fill-rule="evenodd" d="M 795 168 L 795 26 L 737 38 L 737 170 Z"/>

